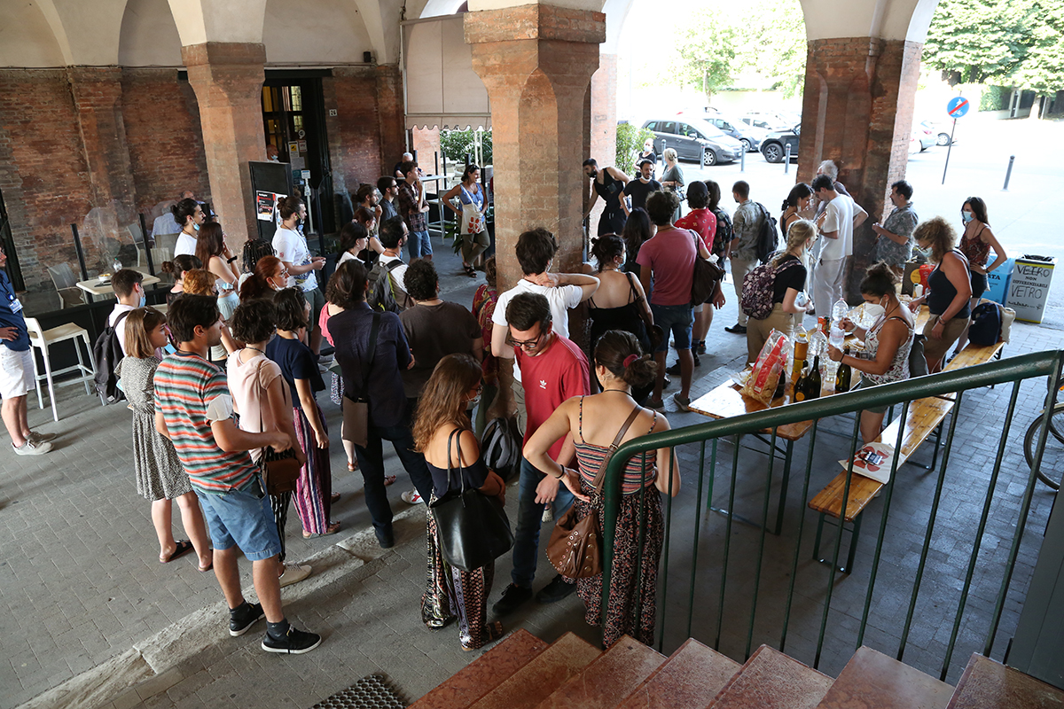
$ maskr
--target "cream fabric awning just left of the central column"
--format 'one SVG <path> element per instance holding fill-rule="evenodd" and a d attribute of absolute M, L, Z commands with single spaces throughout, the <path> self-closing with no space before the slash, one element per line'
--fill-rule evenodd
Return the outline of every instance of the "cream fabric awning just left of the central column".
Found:
<path fill-rule="evenodd" d="M 464 15 L 402 23 L 406 128 L 492 126 L 487 89 L 472 70 Z"/>

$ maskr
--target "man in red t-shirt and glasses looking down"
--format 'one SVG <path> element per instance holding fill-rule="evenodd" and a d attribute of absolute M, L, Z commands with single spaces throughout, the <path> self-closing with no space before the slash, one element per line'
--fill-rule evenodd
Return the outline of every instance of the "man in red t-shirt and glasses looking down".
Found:
<path fill-rule="evenodd" d="M 514 356 L 521 368 L 528 426 L 525 442 L 550 418 L 562 402 L 591 393 L 591 371 L 587 357 L 567 337 L 551 328 L 550 303 L 541 293 L 518 293 L 506 305 L 506 327 Z M 570 466 L 576 453 L 572 436 L 554 441 L 549 455 L 563 466 Z M 521 473 L 517 492 L 517 529 L 514 533 L 514 570 L 512 583 L 493 609 L 505 615 L 532 597 L 536 558 L 539 551 L 539 525 L 546 503 L 554 503 L 555 513 L 562 514 L 572 504 L 572 493 L 558 478 L 544 475 L 521 457 Z M 561 575 L 537 594 L 539 603 L 560 601 L 576 590 Z"/>

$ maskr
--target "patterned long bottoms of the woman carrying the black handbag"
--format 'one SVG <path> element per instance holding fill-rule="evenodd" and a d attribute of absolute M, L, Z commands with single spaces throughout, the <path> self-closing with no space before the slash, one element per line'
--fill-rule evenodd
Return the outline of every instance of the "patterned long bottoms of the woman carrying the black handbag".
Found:
<path fill-rule="evenodd" d="M 432 502 L 435 500 L 433 495 Z M 475 571 L 453 568 L 444 561 L 431 509 L 426 509 L 426 527 L 429 563 L 421 596 L 421 621 L 430 628 L 442 628 L 456 617 L 462 646 L 482 647 L 495 639 L 487 625 L 487 596 L 495 580 L 495 562 Z"/>

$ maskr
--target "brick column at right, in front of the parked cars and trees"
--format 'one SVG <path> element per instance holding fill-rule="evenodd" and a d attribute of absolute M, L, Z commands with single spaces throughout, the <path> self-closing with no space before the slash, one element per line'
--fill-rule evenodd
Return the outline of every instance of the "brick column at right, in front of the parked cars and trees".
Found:
<path fill-rule="evenodd" d="M 875 256 L 871 224 L 890 214 L 891 183 L 905 176 L 922 49 L 875 37 L 809 43 L 799 179 L 810 182 L 820 161 L 836 161 L 839 182 L 869 215 L 853 235 L 851 303 Z"/>

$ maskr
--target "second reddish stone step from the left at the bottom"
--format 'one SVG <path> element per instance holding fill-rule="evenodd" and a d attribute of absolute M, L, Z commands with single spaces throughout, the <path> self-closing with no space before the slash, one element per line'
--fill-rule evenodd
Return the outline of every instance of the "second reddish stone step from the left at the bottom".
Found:
<path fill-rule="evenodd" d="M 532 709 L 599 655 L 596 647 L 566 632 L 471 707 Z"/>

